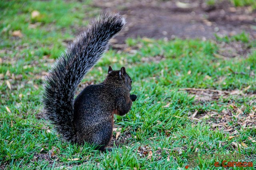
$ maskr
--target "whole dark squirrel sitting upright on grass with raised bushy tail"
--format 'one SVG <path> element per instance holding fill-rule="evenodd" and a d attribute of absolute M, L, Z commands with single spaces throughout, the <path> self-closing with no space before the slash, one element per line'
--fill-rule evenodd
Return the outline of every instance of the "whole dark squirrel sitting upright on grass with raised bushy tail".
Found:
<path fill-rule="evenodd" d="M 126 69 L 112 70 L 111 66 L 102 83 L 87 86 L 74 99 L 78 84 L 125 23 L 119 14 L 102 14 L 93 20 L 68 45 L 46 76 L 42 113 L 64 140 L 79 145 L 87 142 L 98 150 L 106 150 L 112 138 L 114 114 L 125 115 L 136 100 L 137 96 L 130 94 L 132 79 Z"/>

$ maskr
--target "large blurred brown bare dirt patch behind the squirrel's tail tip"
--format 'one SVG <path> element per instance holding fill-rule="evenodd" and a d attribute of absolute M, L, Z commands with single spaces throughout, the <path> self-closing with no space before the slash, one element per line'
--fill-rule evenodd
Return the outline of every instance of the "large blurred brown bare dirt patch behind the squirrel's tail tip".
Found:
<path fill-rule="evenodd" d="M 126 17 L 125 30 L 115 39 L 124 43 L 136 38 L 212 39 L 216 33 L 234 35 L 242 30 L 256 38 L 256 12 L 250 7 L 234 8 L 227 0 L 207 6 L 202 0 L 96 0 L 94 5 L 106 11 L 120 11 Z"/>

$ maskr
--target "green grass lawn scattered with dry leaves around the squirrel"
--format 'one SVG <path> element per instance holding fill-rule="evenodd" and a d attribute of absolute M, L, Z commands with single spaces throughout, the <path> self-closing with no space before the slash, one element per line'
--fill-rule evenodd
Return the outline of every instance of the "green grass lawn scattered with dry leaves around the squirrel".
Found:
<path fill-rule="evenodd" d="M 217 38 L 217 42 L 127 39 L 127 47 L 133 51 L 119 53 L 110 49 L 82 84 L 104 80 L 109 65 L 114 69 L 125 66 L 138 100 L 128 114 L 115 116 L 115 125 L 121 128 L 115 142 L 121 144 L 111 152 L 101 153 L 87 144 L 63 142 L 52 125 L 40 118 L 39 102 L 42 78 L 53 59 L 65 49 L 65 42 L 74 38 L 77 28 L 88 24 L 84 18 L 95 16 L 98 10 L 90 2 L 61 0 L 1 2 L 0 10 L 1 168 L 176 170 L 188 164 L 190 152 L 198 153 L 198 169 L 202 170 L 218 169 L 213 159 L 213 154 L 218 153 L 245 154 L 242 161 L 256 165 L 256 143 L 248 139 L 256 140 L 255 118 L 249 118 L 253 122 L 241 127 L 256 107 L 256 79 L 252 74 L 256 74 L 256 42 L 246 33 Z M 40 16 L 32 19 L 34 10 Z M 30 24 L 37 26 L 32 29 Z M 16 30 L 23 37 L 12 36 Z M 218 43 L 235 41 L 249 47 L 250 54 L 216 57 Z M 180 88 L 242 94 L 223 94 L 216 99 L 209 92 L 197 92 L 199 96 L 210 96 L 210 100 L 198 100 L 195 91 Z M 236 107 L 242 110 L 238 117 Z M 191 118 L 195 111 L 198 120 Z M 212 113 L 218 114 L 199 119 Z M 226 126 L 212 127 L 219 121 Z M 230 128 L 234 130 L 225 131 Z M 211 158 L 203 160 L 204 154 Z"/>

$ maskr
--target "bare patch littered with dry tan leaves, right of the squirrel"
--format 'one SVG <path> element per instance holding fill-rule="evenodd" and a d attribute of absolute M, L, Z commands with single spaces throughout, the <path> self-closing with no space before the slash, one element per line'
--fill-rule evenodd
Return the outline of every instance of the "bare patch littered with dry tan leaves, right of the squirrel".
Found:
<path fill-rule="evenodd" d="M 247 94 L 241 90 L 222 91 L 212 89 L 198 89 L 198 88 L 183 88 L 179 90 L 186 90 L 188 93 L 195 96 L 197 102 L 209 102 L 213 100 L 219 100 L 220 98 L 228 98 L 229 96 L 241 96 L 242 97 L 255 97 L 254 94 Z M 246 91 L 246 89 L 245 89 Z M 255 104 L 255 100 L 250 101 L 250 106 Z M 236 107 L 236 103 L 230 102 L 221 112 L 215 111 L 200 111 L 196 110 L 191 113 L 190 119 L 192 121 L 206 121 L 212 129 L 223 130 L 232 135 L 238 135 L 238 133 L 245 129 L 252 129 L 256 125 L 256 108 L 252 107 L 251 110 L 246 111 L 245 106 Z"/>

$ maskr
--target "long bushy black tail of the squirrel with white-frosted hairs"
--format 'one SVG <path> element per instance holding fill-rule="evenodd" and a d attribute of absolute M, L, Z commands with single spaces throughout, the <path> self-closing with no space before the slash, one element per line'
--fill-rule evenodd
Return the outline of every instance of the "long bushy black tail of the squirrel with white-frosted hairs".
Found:
<path fill-rule="evenodd" d="M 68 45 L 44 82 L 43 113 L 64 139 L 76 142 L 74 131 L 74 95 L 84 75 L 108 49 L 108 41 L 125 24 L 119 14 L 106 14 Z"/>

